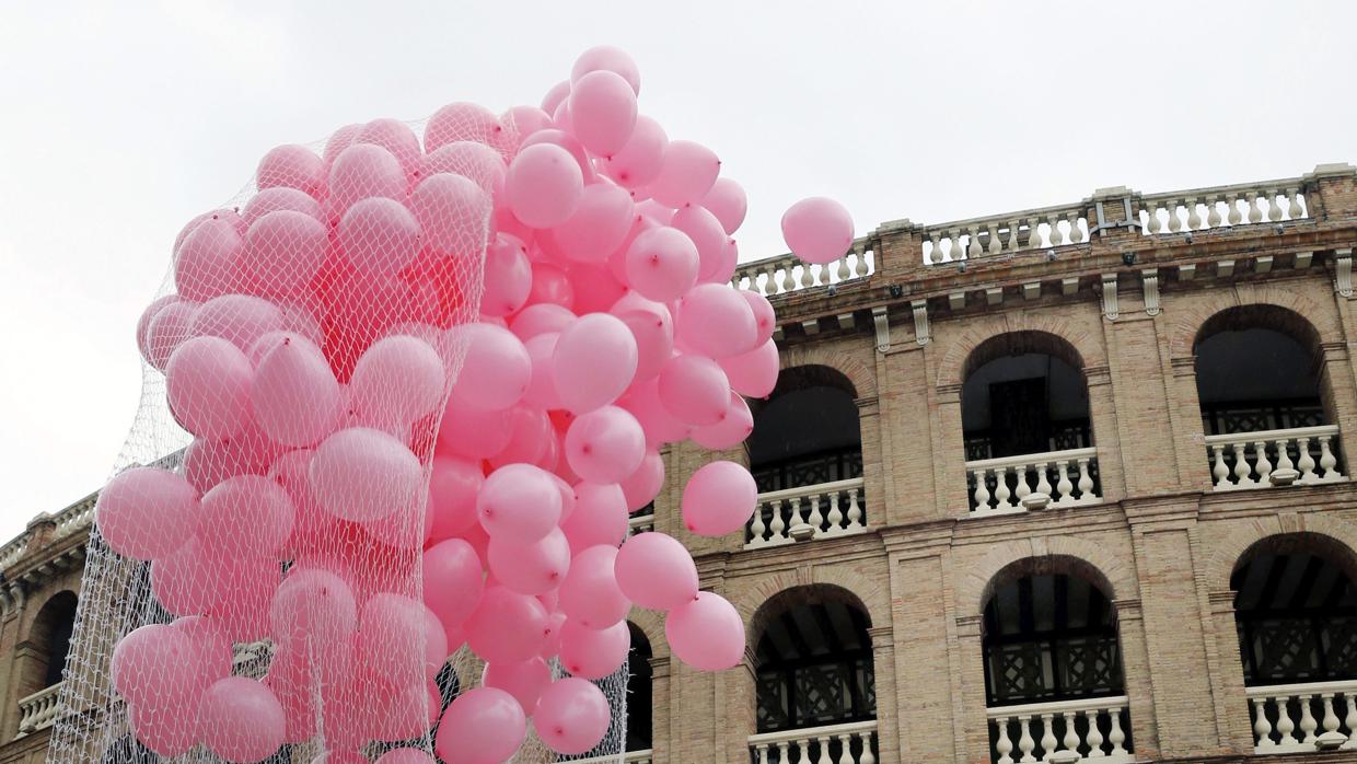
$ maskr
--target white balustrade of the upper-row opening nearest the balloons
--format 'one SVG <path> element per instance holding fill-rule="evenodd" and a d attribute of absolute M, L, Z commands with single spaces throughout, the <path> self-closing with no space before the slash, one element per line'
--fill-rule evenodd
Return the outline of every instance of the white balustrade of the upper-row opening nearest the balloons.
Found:
<path fill-rule="evenodd" d="M 867 529 L 864 503 L 862 478 L 759 494 L 745 548 L 790 544 L 798 525 L 813 528 L 814 539 L 862 533 Z"/>

